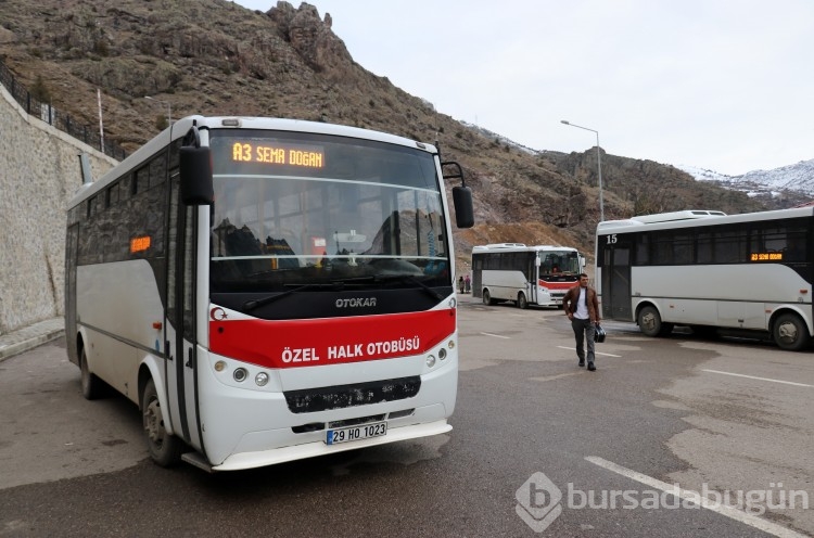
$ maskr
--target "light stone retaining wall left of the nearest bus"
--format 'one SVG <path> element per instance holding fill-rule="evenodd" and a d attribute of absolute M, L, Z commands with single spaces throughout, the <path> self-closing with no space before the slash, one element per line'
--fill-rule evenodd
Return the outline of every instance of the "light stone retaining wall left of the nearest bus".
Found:
<path fill-rule="evenodd" d="M 65 209 L 113 157 L 29 116 L 0 86 L 0 335 L 64 313 Z"/>

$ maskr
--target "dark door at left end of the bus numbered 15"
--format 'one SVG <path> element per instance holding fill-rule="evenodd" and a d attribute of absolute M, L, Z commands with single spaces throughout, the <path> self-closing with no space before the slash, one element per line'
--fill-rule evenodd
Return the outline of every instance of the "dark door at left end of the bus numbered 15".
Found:
<path fill-rule="evenodd" d="M 631 297 L 631 240 L 625 235 L 600 235 L 602 241 L 602 318 L 634 321 Z"/>

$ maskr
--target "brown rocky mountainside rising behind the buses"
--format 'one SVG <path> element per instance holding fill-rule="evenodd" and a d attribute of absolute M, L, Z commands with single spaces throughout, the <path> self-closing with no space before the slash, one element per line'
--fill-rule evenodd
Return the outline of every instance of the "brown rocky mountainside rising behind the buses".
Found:
<path fill-rule="evenodd" d="M 128 151 L 173 117 L 265 115 L 366 127 L 437 143 L 472 188 L 473 244 L 569 244 L 593 252 L 596 149 L 535 151 L 436 111 L 357 64 L 317 7 L 267 12 L 228 0 L 0 0 L 0 61 L 41 101 Z M 147 95 L 153 98 L 145 99 Z M 686 208 L 742 213 L 756 197 L 652 161 L 602 154 L 606 218 Z M 2 181 L 2 179 L 0 179 Z"/>

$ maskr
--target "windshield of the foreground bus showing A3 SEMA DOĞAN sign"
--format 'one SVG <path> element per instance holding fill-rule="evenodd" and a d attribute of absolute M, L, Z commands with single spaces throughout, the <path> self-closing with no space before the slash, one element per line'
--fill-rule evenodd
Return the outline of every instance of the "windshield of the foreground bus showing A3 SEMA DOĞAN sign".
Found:
<path fill-rule="evenodd" d="M 249 130 L 215 130 L 211 148 L 213 293 L 336 282 L 450 285 L 431 153 Z"/>

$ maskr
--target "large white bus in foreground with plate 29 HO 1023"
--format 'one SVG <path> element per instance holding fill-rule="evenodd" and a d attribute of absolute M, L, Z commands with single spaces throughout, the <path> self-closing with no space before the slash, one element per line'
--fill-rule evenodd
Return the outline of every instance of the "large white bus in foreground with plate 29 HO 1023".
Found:
<path fill-rule="evenodd" d="M 110 385 L 137 404 L 164 466 L 448 432 L 450 177 L 462 183 L 435 146 L 376 131 L 173 124 L 68 207 L 65 328 L 84 395 Z M 471 192 L 453 197 L 471 227 Z"/>

